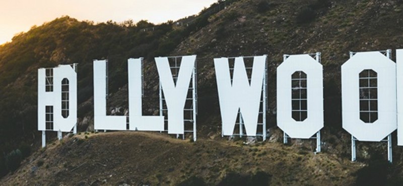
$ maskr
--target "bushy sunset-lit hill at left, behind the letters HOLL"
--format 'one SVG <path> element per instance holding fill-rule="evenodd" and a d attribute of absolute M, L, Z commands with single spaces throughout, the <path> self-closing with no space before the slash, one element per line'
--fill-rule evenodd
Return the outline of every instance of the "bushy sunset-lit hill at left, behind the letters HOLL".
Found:
<path fill-rule="evenodd" d="M 230 2 L 230 1 L 229 1 Z M 231 1 L 235 2 L 235 1 Z M 0 46 L 0 164 L 13 149 L 21 149 L 22 158 L 30 154 L 30 145 L 38 144 L 37 69 L 58 64 L 79 63 L 78 113 L 80 118 L 92 114 L 88 102 L 93 95 L 93 59 L 108 59 L 109 93 L 114 94 L 127 83 L 128 58 L 144 57 L 147 64 L 155 56 L 167 56 L 191 33 L 209 24 L 208 18 L 220 10 L 219 2 L 200 12 L 186 26 L 172 21 L 155 25 L 147 20 L 133 23 L 108 21 L 94 24 L 68 16 L 57 18 L 27 33 L 16 35 L 11 43 Z M 86 130 L 88 124 L 79 126 Z M 24 142 L 23 145 L 16 145 Z M 0 176 L 7 169 L 0 168 Z"/>

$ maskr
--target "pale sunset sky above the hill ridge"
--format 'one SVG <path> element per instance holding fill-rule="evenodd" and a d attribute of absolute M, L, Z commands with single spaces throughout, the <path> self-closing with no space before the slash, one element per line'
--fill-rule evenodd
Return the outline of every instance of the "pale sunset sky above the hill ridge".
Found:
<path fill-rule="evenodd" d="M 0 0 L 0 44 L 61 16 L 95 23 L 164 23 L 199 13 L 217 0 Z"/>

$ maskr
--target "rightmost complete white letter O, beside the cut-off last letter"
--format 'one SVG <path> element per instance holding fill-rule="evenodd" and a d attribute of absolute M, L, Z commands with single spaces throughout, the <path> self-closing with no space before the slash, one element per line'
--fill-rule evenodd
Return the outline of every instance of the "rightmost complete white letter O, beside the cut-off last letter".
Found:
<path fill-rule="evenodd" d="M 396 130 L 396 65 L 380 52 L 358 52 L 342 65 L 343 128 L 360 141 Z"/>

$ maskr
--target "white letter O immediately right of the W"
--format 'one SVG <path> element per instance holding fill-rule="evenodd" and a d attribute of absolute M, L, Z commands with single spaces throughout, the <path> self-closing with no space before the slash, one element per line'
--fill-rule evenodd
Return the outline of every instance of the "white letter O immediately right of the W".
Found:
<path fill-rule="evenodd" d="M 323 128 L 322 65 L 308 54 L 291 55 L 277 68 L 277 125 L 291 138 Z"/>

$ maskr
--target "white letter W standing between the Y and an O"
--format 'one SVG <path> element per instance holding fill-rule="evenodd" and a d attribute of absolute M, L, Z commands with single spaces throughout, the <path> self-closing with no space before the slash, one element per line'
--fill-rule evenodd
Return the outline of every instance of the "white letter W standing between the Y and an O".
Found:
<path fill-rule="evenodd" d="M 246 135 L 256 136 L 265 62 L 265 55 L 253 58 L 249 84 L 243 57 L 235 58 L 233 82 L 231 83 L 228 58 L 214 59 L 224 135 L 233 134 L 238 110 L 240 110 Z"/>

